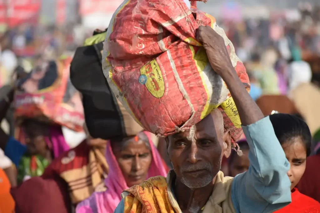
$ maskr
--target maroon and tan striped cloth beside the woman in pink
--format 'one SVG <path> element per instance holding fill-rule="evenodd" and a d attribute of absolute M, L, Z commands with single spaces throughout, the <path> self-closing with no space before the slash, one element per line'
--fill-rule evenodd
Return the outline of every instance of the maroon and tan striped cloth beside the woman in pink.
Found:
<path fill-rule="evenodd" d="M 100 146 L 106 146 L 107 141 L 100 140 Z M 57 175 L 68 184 L 71 202 L 78 204 L 88 198 L 95 190 L 104 187 L 109 166 L 104 156 L 103 148 L 83 141 L 79 146 L 60 155 L 58 160 L 50 164 L 42 177 L 44 179 Z"/>

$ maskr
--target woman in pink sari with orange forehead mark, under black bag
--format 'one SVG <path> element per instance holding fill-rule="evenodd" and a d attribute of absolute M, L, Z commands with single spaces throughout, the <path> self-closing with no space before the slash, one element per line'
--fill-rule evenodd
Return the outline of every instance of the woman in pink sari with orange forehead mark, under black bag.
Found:
<path fill-rule="evenodd" d="M 149 177 L 166 177 L 168 172 L 147 131 L 124 138 L 121 142 L 108 142 L 106 159 L 109 165 L 109 174 L 105 179 L 107 189 L 95 192 L 79 203 L 76 213 L 113 213 L 124 189 Z"/>

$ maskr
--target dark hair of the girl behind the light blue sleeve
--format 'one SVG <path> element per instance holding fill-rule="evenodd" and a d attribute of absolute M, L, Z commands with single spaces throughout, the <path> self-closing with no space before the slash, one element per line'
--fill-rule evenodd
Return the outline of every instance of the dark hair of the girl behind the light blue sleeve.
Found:
<path fill-rule="evenodd" d="M 269 116 L 276 137 L 281 145 L 296 137 L 300 137 L 307 151 L 307 156 L 310 155 L 311 133 L 306 122 L 297 116 L 290 114 L 272 114 Z"/>

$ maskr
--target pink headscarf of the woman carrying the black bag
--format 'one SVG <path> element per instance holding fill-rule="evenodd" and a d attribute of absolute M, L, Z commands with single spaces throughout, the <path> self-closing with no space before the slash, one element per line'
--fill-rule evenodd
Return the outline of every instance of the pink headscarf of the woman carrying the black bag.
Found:
<path fill-rule="evenodd" d="M 148 136 L 152 153 L 152 161 L 147 178 L 155 176 L 166 177 L 169 169 L 151 141 L 150 133 L 148 131 L 143 132 Z M 107 143 L 106 159 L 109 165 L 109 174 L 105 179 L 107 190 L 105 192 L 95 192 L 88 199 L 79 203 L 76 213 L 113 213 L 121 201 L 121 193 L 129 188 L 109 142 Z"/>

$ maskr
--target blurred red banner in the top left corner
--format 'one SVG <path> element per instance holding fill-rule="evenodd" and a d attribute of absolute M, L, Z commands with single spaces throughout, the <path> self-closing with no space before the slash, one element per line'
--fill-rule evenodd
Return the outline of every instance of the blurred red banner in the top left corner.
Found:
<path fill-rule="evenodd" d="M 0 23 L 15 27 L 38 21 L 41 0 L 0 0 Z"/>

